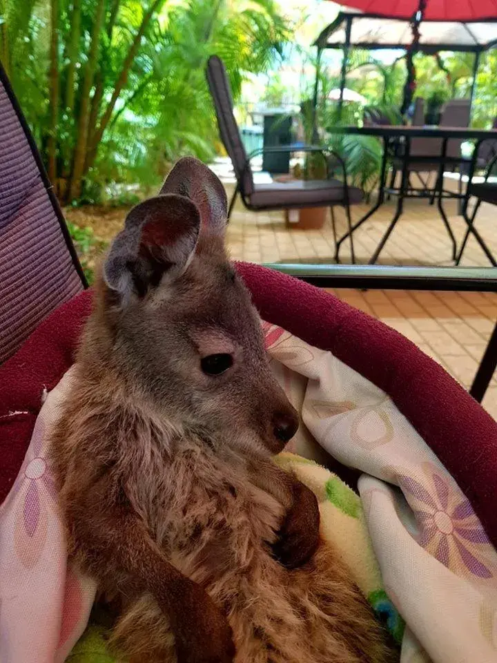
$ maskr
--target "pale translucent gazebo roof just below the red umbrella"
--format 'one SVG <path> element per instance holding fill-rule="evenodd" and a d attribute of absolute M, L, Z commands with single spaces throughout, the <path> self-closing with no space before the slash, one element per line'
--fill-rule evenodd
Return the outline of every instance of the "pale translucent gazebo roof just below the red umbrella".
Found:
<path fill-rule="evenodd" d="M 347 44 L 348 29 L 350 29 L 349 45 L 353 48 L 406 49 L 413 41 L 409 19 L 360 12 L 340 12 L 335 21 L 322 30 L 315 41 L 315 46 L 344 48 Z M 497 17 L 494 20 L 465 23 L 422 21 L 417 50 L 428 54 L 439 50 L 478 52 L 496 45 Z"/>

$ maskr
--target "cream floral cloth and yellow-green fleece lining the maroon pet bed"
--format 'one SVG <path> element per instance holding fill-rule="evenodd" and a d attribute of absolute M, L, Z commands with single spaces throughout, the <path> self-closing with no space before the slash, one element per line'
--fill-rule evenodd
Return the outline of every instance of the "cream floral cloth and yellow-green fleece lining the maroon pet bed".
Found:
<path fill-rule="evenodd" d="M 358 497 L 319 465 L 280 458 L 318 495 L 324 535 L 402 641 L 400 661 L 495 663 L 497 553 L 454 479 L 378 387 L 280 327 L 264 331 L 273 370 L 302 416 L 289 451 L 362 472 Z M 2 663 L 112 660 L 103 634 L 87 629 L 95 586 L 68 566 L 46 462 L 70 379 L 69 371 L 48 394 L 0 508 Z"/>

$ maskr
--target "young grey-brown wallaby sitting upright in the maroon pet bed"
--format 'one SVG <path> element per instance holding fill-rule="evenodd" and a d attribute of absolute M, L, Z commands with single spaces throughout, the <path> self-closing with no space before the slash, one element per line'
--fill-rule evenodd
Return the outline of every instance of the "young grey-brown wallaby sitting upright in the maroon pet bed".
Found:
<path fill-rule="evenodd" d="M 70 555 L 130 662 L 398 660 L 315 496 L 273 462 L 298 415 L 225 224 L 221 182 L 188 157 L 110 248 L 51 440 Z"/>

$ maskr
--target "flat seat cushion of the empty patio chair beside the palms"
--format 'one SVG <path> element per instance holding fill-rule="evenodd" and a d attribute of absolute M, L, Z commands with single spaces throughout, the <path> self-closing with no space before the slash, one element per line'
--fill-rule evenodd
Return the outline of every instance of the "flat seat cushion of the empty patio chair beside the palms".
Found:
<path fill-rule="evenodd" d="M 305 207 L 315 205 L 340 205 L 344 202 L 344 185 L 340 180 L 293 180 L 255 184 L 250 196 L 254 207 Z M 349 202 L 361 202 L 362 191 L 349 186 Z"/>

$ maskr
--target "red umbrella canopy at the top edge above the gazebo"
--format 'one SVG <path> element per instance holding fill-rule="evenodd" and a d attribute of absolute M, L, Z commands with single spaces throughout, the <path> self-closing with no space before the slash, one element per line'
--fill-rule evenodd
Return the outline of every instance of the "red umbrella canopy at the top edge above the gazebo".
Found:
<path fill-rule="evenodd" d="M 419 9 L 419 0 L 340 0 L 346 7 L 369 14 L 410 19 Z M 425 21 L 474 21 L 495 19 L 497 0 L 426 0 Z"/>

